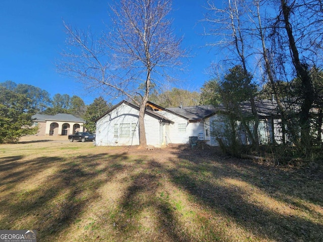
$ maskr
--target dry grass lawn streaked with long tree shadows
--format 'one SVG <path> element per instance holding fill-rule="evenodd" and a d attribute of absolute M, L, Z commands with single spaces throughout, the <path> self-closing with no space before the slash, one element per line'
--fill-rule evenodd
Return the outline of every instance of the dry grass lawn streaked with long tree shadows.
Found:
<path fill-rule="evenodd" d="M 43 139 L 0 145 L 0 229 L 36 229 L 37 241 L 323 241 L 317 167 Z"/>

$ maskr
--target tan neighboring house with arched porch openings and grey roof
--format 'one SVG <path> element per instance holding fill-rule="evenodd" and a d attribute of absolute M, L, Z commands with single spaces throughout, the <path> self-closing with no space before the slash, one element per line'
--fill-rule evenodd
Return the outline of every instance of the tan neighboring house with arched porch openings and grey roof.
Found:
<path fill-rule="evenodd" d="M 70 135 L 75 132 L 84 132 L 85 121 L 72 114 L 58 113 L 56 115 L 35 114 L 32 116 L 33 126 L 38 126 L 37 136 Z"/>

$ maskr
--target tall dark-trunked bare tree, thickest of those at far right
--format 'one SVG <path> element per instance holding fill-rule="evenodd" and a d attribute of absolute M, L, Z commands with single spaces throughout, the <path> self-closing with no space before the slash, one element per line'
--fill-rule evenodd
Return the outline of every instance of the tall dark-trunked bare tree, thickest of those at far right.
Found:
<path fill-rule="evenodd" d="M 322 66 L 322 3 L 317 0 L 281 0 L 278 6 L 276 22 L 270 26 L 272 39 L 280 40 L 281 43 L 275 54 L 282 56 L 280 65 L 289 70 L 291 80 L 299 80 L 301 83 L 293 99 L 300 107 L 297 116 L 300 141 L 304 153 L 308 155 L 312 142 L 311 108 L 315 99 L 314 79 L 310 70 Z"/>

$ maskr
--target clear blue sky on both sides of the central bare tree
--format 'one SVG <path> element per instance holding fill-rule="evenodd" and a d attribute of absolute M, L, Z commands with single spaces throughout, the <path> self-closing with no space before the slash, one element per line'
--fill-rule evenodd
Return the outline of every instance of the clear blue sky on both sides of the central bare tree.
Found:
<path fill-rule="evenodd" d="M 86 104 L 97 95 L 87 94 L 81 83 L 57 73 L 55 63 L 65 47 L 63 20 L 80 29 L 99 34 L 109 21 L 107 0 L 2 0 L 0 2 L 0 82 L 30 84 L 50 93 L 80 96 Z M 209 76 L 205 74 L 216 55 L 202 48 L 205 37 L 198 21 L 205 1 L 173 2 L 173 27 L 184 36 L 183 47 L 192 49 L 185 75 L 177 87 L 198 91 Z"/>

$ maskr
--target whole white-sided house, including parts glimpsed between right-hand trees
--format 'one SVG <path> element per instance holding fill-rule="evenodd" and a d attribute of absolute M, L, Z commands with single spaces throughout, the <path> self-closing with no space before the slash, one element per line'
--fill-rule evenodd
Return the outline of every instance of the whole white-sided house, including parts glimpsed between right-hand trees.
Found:
<path fill-rule="evenodd" d="M 277 104 L 271 100 L 261 100 L 256 105 L 260 143 L 278 142 L 282 130 Z M 225 123 L 225 111 L 221 114 L 223 110 L 221 106 L 212 105 L 164 108 L 148 102 L 145 113 L 147 144 L 155 147 L 188 144 L 190 136 L 197 136 L 210 146 L 219 146 L 214 131 L 222 129 Z M 243 103 L 241 110 L 246 116 L 250 115 L 250 104 Z M 127 101 L 120 102 L 96 120 L 96 145 L 139 145 L 138 120 L 139 107 Z M 249 143 L 242 126 L 239 127 L 238 136 L 242 144 Z"/>

